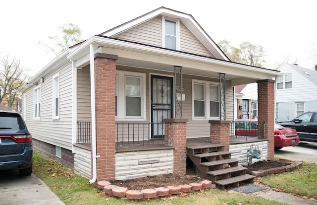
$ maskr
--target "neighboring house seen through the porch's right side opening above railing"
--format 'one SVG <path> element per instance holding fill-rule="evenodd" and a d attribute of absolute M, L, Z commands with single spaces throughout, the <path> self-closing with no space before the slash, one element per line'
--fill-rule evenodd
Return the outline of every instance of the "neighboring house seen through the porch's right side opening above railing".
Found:
<path fill-rule="evenodd" d="M 258 119 L 258 84 L 237 85 L 235 91 L 234 119 Z"/>

